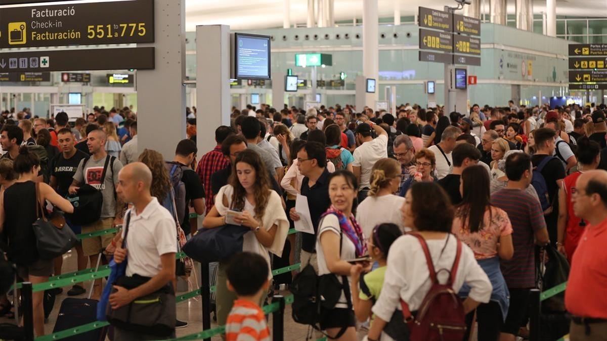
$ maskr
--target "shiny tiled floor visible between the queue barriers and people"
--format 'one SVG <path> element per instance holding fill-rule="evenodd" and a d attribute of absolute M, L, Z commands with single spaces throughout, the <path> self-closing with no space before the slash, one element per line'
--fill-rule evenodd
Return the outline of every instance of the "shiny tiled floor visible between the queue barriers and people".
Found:
<path fill-rule="evenodd" d="M 199 268 L 199 266 L 197 267 Z M 64 255 L 63 262 L 63 272 L 73 272 L 76 271 L 76 260 L 72 253 Z M 192 279 L 193 282 L 193 279 Z M 81 283 L 84 288 L 90 288 L 90 282 Z M 60 294 L 56 297 L 55 308 L 50 314 L 49 320 L 45 325 L 45 331 L 47 334 L 52 333 L 53 327 L 55 326 L 55 321 L 57 318 L 57 314 L 59 312 L 59 306 L 63 299 L 68 297 L 66 292 L 70 289 L 70 287 L 63 288 L 63 294 Z M 177 292 L 177 295 L 184 294 L 186 291 Z M 282 294 L 288 295 L 289 292 L 282 292 Z M 86 298 L 88 297 L 88 292 L 86 294 L 76 296 L 78 298 Z M 177 318 L 179 320 L 188 321 L 189 325 L 186 328 L 177 329 L 177 337 L 185 336 L 188 334 L 194 334 L 203 330 L 202 328 L 202 303 L 200 301 L 200 297 L 195 297 L 195 299 L 190 299 L 185 302 L 177 303 Z M 287 306 L 285 310 L 285 333 L 284 339 L 285 341 L 299 341 L 305 340 L 308 328 L 305 325 L 300 325 L 298 323 L 293 322 L 291 318 L 291 306 Z M 14 320 L 0 319 L 0 323 L 3 322 L 14 322 Z M 211 319 L 211 327 L 217 326 Z M 269 320 L 270 331 L 272 331 L 272 319 Z M 219 336 L 214 337 L 213 340 L 221 340 Z"/>

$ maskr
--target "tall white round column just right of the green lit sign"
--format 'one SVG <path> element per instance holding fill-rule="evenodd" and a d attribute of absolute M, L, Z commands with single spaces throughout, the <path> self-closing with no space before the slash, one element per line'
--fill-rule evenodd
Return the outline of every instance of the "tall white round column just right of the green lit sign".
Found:
<path fill-rule="evenodd" d="M 362 1 L 362 75 L 365 78 L 376 79 L 379 83 L 379 18 L 378 18 L 378 1 L 363 0 Z M 379 89 L 376 86 L 376 89 Z M 378 100 L 378 92 L 365 92 L 365 105 L 375 108 L 375 101 Z M 360 111 L 362 108 L 356 108 Z"/>

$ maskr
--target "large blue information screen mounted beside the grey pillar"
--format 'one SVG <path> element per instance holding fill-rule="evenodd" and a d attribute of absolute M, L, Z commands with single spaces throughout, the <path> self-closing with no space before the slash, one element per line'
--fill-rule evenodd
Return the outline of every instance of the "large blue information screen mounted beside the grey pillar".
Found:
<path fill-rule="evenodd" d="M 270 36 L 234 33 L 234 79 L 270 79 Z"/>

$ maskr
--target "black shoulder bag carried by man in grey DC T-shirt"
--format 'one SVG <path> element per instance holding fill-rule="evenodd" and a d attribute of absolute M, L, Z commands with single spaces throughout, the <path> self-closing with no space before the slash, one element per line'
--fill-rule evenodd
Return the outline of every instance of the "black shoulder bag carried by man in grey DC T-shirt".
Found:
<path fill-rule="evenodd" d="M 82 171 L 90 157 L 84 158 L 82 161 Z M 101 217 L 101 208 L 103 208 L 103 184 L 106 178 L 107 166 L 109 164 L 112 174 L 114 174 L 114 160 L 115 157 L 110 155 L 106 156 L 106 163 L 103 165 L 103 172 L 101 173 L 101 185 L 99 189 L 96 189 L 90 184 L 83 184 L 78 189 L 76 194 L 70 194 L 67 196 L 67 200 L 74 206 L 74 212 L 72 214 L 66 214 L 70 221 L 75 225 L 89 225 L 98 221 Z M 115 195 L 115 192 L 114 192 Z"/>

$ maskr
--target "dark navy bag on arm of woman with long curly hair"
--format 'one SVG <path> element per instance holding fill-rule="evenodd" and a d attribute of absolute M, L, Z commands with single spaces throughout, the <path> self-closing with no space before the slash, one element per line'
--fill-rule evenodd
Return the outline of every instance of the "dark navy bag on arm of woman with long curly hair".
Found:
<path fill-rule="evenodd" d="M 203 229 L 183 245 L 183 252 L 200 263 L 223 262 L 242 252 L 243 237 L 249 231 L 245 226 L 231 224 Z"/>

